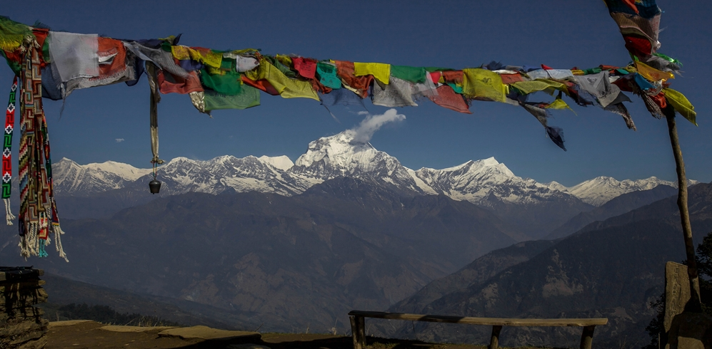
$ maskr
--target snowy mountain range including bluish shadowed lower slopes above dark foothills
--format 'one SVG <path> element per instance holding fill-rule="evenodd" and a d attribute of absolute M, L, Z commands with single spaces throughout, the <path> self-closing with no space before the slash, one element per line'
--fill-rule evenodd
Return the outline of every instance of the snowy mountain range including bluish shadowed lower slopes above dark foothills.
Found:
<path fill-rule="evenodd" d="M 66 200 L 75 207 L 69 212 L 61 211 L 70 218 L 108 217 L 118 209 L 153 199 L 146 195 L 146 184 L 152 179 L 150 169 L 118 162 L 78 165 L 63 158 L 53 170 L 58 202 Z M 520 240 L 541 239 L 568 219 L 621 194 L 659 185 L 675 186 L 656 177 L 621 182 L 596 177 L 573 187 L 557 182 L 538 183 L 514 175 L 493 157 L 442 170 L 427 167 L 411 170 L 370 143 L 355 142 L 352 130 L 310 142 L 294 163 L 286 156 L 225 155 L 206 161 L 177 157 L 159 167 L 157 175 L 162 182 L 161 196 L 187 192 L 219 194 L 229 190 L 291 197 L 328 179 L 357 178 L 406 196 L 443 194 L 485 207 L 516 226 L 521 231 Z M 110 205 L 105 207 L 101 200 L 91 201 L 92 197 L 114 199 L 105 200 Z"/>

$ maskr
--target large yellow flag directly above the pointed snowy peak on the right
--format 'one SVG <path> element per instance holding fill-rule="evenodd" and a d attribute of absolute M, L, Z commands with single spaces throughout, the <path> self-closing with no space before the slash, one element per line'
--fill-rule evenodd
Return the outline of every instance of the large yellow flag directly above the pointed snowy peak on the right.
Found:
<path fill-rule="evenodd" d="M 498 73 L 481 68 L 467 68 L 462 72 L 462 94 L 466 97 L 502 103 L 506 101 L 507 87 Z"/>

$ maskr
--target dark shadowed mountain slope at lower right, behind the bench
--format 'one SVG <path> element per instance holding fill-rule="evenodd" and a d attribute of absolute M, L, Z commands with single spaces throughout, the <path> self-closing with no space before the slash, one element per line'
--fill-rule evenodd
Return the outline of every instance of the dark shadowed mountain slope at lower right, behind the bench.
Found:
<path fill-rule="evenodd" d="M 698 244 L 712 231 L 712 184 L 689 190 Z M 666 261 L 684 259 L 676 197 L 588 224 L 565 239 L 526 241 L 492 251 L 454 274 L 429 283 L 389 311 L 512 318 L 608 318 L 596 327 L 600 348 L 639 348 L 650 342 L 651 301 L 663 291 Z M 381 323 L 373 335 L 483 343 L 488 328 Z M 578 345 L 578 328 L 506 328 L 504 345 Z"/>

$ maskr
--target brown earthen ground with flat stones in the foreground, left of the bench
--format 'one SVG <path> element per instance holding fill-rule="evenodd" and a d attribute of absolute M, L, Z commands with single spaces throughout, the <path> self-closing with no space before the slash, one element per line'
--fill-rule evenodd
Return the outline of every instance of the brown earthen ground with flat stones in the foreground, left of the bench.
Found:
<path fill-rule="evenodd" d="M 56 348 L 225 348 L 351 349 L 351 337 L 304 333 L 254 333 L 192 328 L 112 326 L 94 321 L 56 321 L 46 334 L 46 349 Z M 371 349 L 484 349 L 483 345 L 433 344 L 412 340 L 368 338 Z M 526 349 L 526 348 L 521 348 Z"/>

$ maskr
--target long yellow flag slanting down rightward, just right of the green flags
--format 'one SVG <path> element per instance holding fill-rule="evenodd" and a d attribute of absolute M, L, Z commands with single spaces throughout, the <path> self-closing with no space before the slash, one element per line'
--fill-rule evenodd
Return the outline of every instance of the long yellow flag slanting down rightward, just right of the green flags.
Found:
<path fill-rule="evenodd" d="M 262 58 L 257 68 L 246 71 L 245 76 L 250 80 L 267 80 L 279 92 L 282 98 L 311 98 L 320 100 L 311 83 L 290 79 L 276 66 Z"/>

